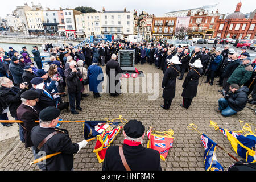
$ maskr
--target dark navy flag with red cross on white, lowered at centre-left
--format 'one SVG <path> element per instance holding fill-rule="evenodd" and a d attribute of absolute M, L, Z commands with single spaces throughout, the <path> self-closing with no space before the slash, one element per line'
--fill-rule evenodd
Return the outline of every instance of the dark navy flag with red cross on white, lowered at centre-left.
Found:
<path fill-rule="evenodd" d="M 121 122 L 112 122 L 111 124 L 106 121 L 85 121 L 84 122 L 84 138 L 86 140 L 96 137 L 103 133 L 106 129 L 113 129 Z"/>

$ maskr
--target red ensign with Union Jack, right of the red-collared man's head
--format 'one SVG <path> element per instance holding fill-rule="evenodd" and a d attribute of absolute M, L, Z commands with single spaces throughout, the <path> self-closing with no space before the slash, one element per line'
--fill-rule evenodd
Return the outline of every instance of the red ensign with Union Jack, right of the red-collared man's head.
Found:
<path fill-rule="evenodd" d="M 174 138 L 170 135 L 158 135 L 151 132 L 151 129 L 147 131 L 148 144 L 147 148 L 157 150 L 162 160 L 166 160 L 169 149 L 172 147 Z"/>

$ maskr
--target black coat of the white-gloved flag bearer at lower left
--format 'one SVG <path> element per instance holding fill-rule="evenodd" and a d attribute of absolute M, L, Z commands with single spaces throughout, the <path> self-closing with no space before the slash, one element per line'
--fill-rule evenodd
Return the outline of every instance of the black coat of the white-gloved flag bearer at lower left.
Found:
<path fill-rule="evenodd" d="M 61 154 L 46 159 L 46 169 L 47 171 L 70 171 L 73 168 L 73 154 L 77 153 L 79 145 L 72 143 L 67 130 L 35 126 L 31 131 L 32 143 L 38 147 L 39 143 L 54 131 L 60 131 L 60 133 L 53 135 L 40 148 L 40 151 L 45 151 L 46 155 L 55 152 L 61 152 Z M 39 152 L 38 148 L 36 148 L 36 152 Z"/>

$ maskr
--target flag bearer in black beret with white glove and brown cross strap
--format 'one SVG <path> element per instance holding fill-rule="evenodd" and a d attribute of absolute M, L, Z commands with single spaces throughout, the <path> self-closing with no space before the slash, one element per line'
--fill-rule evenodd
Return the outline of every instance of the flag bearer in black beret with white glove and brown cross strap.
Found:
<path fill-rule="evenodd" d="M 79 143 L 72 143 L 67 130 L 56 129 L 59 115 L 60 110 L 56 107 L 43 109 L 39 114 L 40 125 L 35 126 L 31 131 L 31 140 L 36 154 L 39 155 L 44 152 L 45 155 L 49 155 L 55 152 L 61 152 L 59 155 L 44 160 L 44 168 L 41 168 L 42 170 L 73 170 L 73 154 L 77 154 L 88 143 L 86 140 L 82 140 Z M 43 140 L 45 142 L 42 143 Z"/>

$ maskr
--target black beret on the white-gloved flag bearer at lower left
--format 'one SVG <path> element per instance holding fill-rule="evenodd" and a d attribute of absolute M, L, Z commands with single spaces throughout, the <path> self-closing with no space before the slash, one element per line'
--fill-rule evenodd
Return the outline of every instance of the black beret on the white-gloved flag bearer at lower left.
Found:
<path fill-rule="evenodd" d="M 60 110 L 56 107 L 46 107 L 39 113 L 39 119 L 43 121 L 52 121 L 60 115 Z"/>

